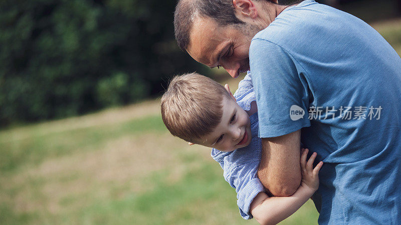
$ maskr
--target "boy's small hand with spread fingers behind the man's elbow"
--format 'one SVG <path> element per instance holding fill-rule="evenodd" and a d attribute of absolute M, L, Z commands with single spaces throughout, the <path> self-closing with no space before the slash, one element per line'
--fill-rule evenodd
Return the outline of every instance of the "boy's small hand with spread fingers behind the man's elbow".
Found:
<path fill-rule="evenodd" d="M 315 168 L 313 168 L 313 161 L 315 161 L 316 152 L 310 156 L 308 162 L 306 162 L 306 157 L 308 154 L 308 148 L 302 148 L 301 152 L 301 173 L 302 173 L 302 181 L 301 186 L 308 187 L 316 191 L 319 187 L 319 170 L 323 165 L 323 162 L 320 161 Z"/>

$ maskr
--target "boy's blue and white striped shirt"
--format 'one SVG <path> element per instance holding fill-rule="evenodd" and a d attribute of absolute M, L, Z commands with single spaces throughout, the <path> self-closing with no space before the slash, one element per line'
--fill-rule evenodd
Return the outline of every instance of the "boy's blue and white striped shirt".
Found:
<path fill-rule="evenodd" d="M 240 81 L 234 96 L 240 107 L 244 110 L 251 109 L 251 102 L 256 99 L 250 74 L 247 74 Z M 236 189 L 237 204 L 241 216 L 245 219 L 252 218 L 249 208 L 255 196 L 259 192 L 265 191 L 257 174 L 262 150 L 262 142 L 258 137 L 258 113 L 254 113 L 249 119 L 251 121 L 252 139 L 248 146 L 230 152 L 213 148 L 211 153 L 212 157 L 224 169 L 224 178 Z"/>

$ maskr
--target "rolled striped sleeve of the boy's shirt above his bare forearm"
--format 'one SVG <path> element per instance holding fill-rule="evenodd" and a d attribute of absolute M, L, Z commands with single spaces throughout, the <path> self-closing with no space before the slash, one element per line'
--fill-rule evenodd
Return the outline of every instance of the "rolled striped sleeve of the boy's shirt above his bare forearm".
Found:
<path fill-rule="evenodd" d="M 251 203 L 258 193 L 265 191 L 257 176 L 257 167 L 258 161 L 253 161 L 245 165 L 235 165 L 227 168 L 228 172 L 225 171 L 224 178 L 237 191 L 237 204 L 244 219 L 253 218 L 249 212 Z"/>

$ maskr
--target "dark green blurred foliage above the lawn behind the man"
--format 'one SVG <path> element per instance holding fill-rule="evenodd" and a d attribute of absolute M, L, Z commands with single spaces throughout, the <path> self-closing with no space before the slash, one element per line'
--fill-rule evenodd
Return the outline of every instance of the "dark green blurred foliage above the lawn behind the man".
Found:
<path fill-rule="evenodd" d="M 213 75 L 178 49 L 175 2 L 0 1 L 0 127 L 159 95 L 173 74 Z M 380 2 L 376 13 L 370 13 L 372 0 L 321 2 L 368 21 L 400 11 L 397 0 Z"/>

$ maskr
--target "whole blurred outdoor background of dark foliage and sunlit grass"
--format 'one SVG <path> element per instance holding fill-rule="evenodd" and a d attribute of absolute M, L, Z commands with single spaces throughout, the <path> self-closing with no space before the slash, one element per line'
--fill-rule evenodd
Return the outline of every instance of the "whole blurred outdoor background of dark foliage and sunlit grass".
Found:
<path fill-rule="evenodd" d="M 369 22 L 401 54 L 399 0 L 320 2 Z M 257 223 L 241 218 L 210 149 L 161 121 L 172 75 L 197 70 L 233 91 L 243 77 L 178 49 L 174 6 L 0 1 L 0 224 Z M 282 223 L 317 216 L 308 201 Z"/>

